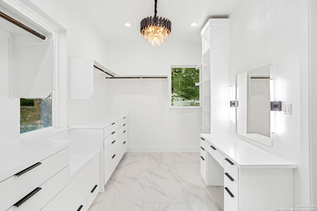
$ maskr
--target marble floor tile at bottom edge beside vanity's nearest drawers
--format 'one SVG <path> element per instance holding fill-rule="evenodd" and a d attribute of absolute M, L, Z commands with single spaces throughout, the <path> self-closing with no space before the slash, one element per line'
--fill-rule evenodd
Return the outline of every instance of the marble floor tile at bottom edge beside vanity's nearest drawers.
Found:
<path fill-rule="evenodd" d="M 183 189 L 188 211 L 223 211 L 223 194 L 217 187 Z"/>

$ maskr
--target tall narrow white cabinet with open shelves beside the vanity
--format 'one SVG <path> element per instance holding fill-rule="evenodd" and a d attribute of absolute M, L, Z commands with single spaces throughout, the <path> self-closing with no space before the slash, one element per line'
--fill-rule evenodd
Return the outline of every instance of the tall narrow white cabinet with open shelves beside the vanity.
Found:
<path fill-rule="evenodd" d="M 228 133 L 230 124 L 229 19 L 209 19 L 203 49 L 203 132 Z"/>

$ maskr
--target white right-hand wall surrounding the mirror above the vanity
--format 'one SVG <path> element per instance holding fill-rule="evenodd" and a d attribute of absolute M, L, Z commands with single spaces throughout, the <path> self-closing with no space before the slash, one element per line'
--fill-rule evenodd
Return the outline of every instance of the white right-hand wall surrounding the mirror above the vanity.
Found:
<path fill-rule="evenodd" d="M 300 32 L 299 28 L 306 22 L 300 2 L 303 1 L 241 0 L 230 14 L 230 84 L 235 83 L 237 73 L 264 64 L 273 65 L 274 100 L 292 103 L 293 114 L 276 112 L 273 147 L 259 147 L 298 164 L 294 172 L 295 205 L 306 205 L 309 204 L 309 169 L 301 147 L 305 147 L 308 139 L 301 139 L 305 134 L 301 133 L 300 125 L 305 122 L 300 121 L 306 117 L 301 118 L 300 106 L 308 101 L 300 102 L 300 95 L 307 95 L 300 80 L 305 80 L 301 74 L 307 70 L 301 69 L 304 58 L 299 56 L 306 53 L 299 45 L 300 38 L 305 37 L 305 31 Z M 231 123 L 232 133 L 234 128 L 235 124 Z"/>

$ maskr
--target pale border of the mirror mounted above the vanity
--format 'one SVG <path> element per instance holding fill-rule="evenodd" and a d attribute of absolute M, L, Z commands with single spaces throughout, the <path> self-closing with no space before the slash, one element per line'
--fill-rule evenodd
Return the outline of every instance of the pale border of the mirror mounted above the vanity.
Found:
<path fill-rule="evenodd" d="M 265 68 L 265 67 L 268 67 L 269 68 L 269 98 L 270 98 L 270 101 L 273 101 L 273 78 L 272 78 L 272 64 L 266 64 L 266 65 L 263 65 L 263 66 L 260 66 L 260 67 L 257 67 L 257 68 L 254 68 L 254 69 L 251 69 L 251 70 L 247 70 L 247 71 L 244 71 L 244 72 L 241 72 L 241 73 L 238 73 L 236 75 L 236 84 L 235 84 L 235 105 L 238 105 L 238 75 L 239 74 L 242 74 L 242 73 L 247 73 L 249 71 L 252 71 L 252 70 L 258 70 L 258 69 L 262 69 L 262 68 Z M 263 144 L 264 146 L 268 146 L 268 147 L 273 147 L 273 135 L 274 135 L 274 111 L 270 111 L 270 137 L 266 137 L 264 135 L 261 135 L 261 134 L 258 134 L 258 135 L 250 135 L 249 137 L 248 136 L 245 136 L 245 135 L 242 135 L 242 134 L 239 134 L 238 133 L 238 106 L 235 106 L 235 123 L 236 123 L 236 134 L 239 135 L 239 137 L 241 137 L 242 139 L 247 139 L 249 141 L 256 141 L 260 144 Z M 256 133 L 257 134 L 257 133 Z"/>

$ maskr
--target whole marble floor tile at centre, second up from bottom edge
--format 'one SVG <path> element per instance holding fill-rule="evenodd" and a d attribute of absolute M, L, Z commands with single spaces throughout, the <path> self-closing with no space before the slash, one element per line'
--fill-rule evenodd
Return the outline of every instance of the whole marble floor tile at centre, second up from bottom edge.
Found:
<path fill-rule="evenodd" d="M 185 202 L 176 169 L 148 170 L 144 202 Z"/>

